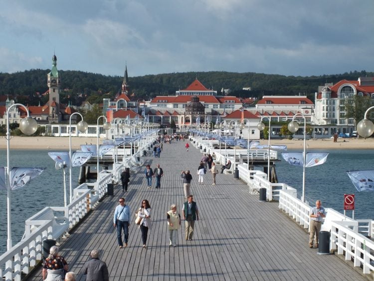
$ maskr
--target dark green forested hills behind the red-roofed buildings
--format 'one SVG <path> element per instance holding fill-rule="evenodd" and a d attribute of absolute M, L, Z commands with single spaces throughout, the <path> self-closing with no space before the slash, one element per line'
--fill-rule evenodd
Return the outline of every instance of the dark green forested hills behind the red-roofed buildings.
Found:
<path fill-rule="evenodd" d="M 16 73 L 0 73 L 0 95 L 34 96 L 47 88 L 49 69 L 31 69 Z M 103 97 L 113 97 L 121 89 L 123 76 L 105 76 L 82 71 L 59 70 L 62 95 L 68 99 L 75 96 L 87 97 L 90 102 L 102 102 Z M 131 69 L 129 70 L 131 73 Z M 218 92 L 221 88 L 230 89 L 230 95 L 240 97 L 261 97 L 262 95 L 307 94 L 314 99 L 318 86 L 336 83 L 342 79 L 357 80 L 360 76 L 374 76 L 374 72 L 354 71 L 350 73 L 321 76 L 283 76 L 263 73 L 236 73 L 224 71 L 183 72 L 129 77 L 131 93 L 136 99 L 149 99 L 150 96 L 175 94 L 178 89 L 186 88 L 195 78 L 209 89 Z M 250 87 L 251 91 L 243 91 Z M 83 94 L 83 95 L 81 95 Z M 73 102 L 73 101 L 72 101 Z M 75 99 L 74 104 L 79 105 Z"/>

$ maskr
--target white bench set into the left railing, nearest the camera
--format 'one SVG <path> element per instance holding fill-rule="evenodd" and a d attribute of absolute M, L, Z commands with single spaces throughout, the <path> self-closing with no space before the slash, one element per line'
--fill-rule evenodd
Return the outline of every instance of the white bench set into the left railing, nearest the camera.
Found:
<path fill-rule="evenodd" d="M 63 207 L 60 207 L 59 209 L 61 209 L 61 212 L 64 210 Z M 31 234 L 38 227 L 48 221 L 52 221 L 52 238 L 54 240 L 58 240 L 60 237 L 64 236 L 65 232 L 69 229 L 68 218 L 64 216 L 55 217 L 54 210 L 50 207 L 45 207 L 43 210 L 25 221 L 25 233 L 23 237 Z"/>

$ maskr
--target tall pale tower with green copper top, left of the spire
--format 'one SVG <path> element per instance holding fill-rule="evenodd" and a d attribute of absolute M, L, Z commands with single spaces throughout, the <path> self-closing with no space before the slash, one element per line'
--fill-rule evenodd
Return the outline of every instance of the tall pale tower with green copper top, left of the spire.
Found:
<path fill-rule="evenodd" d="M 49 123 L 58 123 L 61 121 L 60 114 L 60 77 L 57 71 L 57 57 L 52 56 L 52 69 L 47 74 L 49 88 Z"/>

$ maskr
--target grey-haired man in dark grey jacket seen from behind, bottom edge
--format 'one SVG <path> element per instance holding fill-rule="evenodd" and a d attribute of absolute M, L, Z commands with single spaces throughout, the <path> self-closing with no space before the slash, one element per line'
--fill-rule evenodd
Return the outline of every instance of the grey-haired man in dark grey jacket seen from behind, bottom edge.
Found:
<path fill-rule="evenodd" d="M 82 268 L 83 274 L 87 274 L 86 281 L 109 281 L 107 265 L 99 260 L 99 251 L 91 251 L 91 260 Z"/>

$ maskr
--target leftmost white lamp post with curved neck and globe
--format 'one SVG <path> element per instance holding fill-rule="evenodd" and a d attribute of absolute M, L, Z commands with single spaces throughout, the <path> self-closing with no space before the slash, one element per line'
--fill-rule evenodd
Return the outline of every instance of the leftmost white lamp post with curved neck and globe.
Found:
<path fill-rule="evenodd" d="M 6 201 L 7 201 L 7 234 L 8 238 L 6 241 L 6 249 L 10 250 L 12 242 L 11 242 L 11 188 L 10 188 L 10 164 L 9 164 L 9 159 L 10 159 L 10 129 L 9 129 L 9 110 L 13 106 L 22 106 L 27 112 L 27 117 L 23 118 L 21 122 L 19 123 L 19 129 L 21 130 L 22 133 L 25 135 L 32 135 L 33 133 L 36 132 L 38 125 L 32 117 L 30 117 L 30 114 L 28 112 L 28 109 L 20 103 L 14 103 L 8 107 L 6 110 Z"/>

